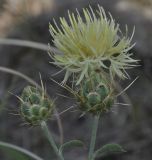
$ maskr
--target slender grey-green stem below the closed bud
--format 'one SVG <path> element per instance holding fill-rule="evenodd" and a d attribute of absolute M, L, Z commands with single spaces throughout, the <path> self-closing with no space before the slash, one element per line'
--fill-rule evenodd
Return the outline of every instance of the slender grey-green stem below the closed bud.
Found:
<path fill-rule="evenodd" d="M 44 132 L 45 137 L 48 139 L 49 143 L 51 144 L 55 154 L 58 156 L 58 158 L 60 160 L 64 160 L 63 156 L 61 154 L 59 154 L 59 149 L 58 149 L 56 143 L 54 142 L 54 139 L 48 129 L 46 122 L 44 122 L 44 121 L 41 122 L 41 128 L 42 128 L 42 131 Z"/>

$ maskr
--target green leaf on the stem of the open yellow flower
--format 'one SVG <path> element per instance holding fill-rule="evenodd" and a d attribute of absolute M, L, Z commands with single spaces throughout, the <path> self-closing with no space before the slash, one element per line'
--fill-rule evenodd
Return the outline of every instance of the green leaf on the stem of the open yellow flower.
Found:
<path fill-rule="evenodd" d="M 126 151 L 119 144 L 106 144 L 94 153 L 94 157 L 104 157 L 109 154 L 117 154 L 122 152 Z"/>

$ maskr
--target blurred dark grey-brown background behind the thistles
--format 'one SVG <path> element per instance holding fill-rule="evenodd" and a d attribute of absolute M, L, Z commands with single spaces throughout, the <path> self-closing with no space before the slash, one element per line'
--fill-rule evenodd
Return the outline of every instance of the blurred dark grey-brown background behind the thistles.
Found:
<path fill-rule="evenodd" d="M 50 77 L 59 69 L 49 63 L 50 57 L 45 47 L 52 38 L 48 31 L 53 18 L 67 17 L 67 10 L 74 11 L 97 4 L 110 12 L 122 30 L 128 25 L 131 35 L 135 26 L 133 42 L 136 46 L 131 52 L 139 59 L 140 66 L 129 70 L 131 79 L 120 82 L 122 88 L 136 77 L 138 80 L 119 98 L 119 102 L 129 106 L 114 106 L 112 112 L 105 114 L 99 124 L 97 148 L 106 143 L 119 143 L 126 153 L 110 155 L 102 160 L 151 160 L 152 159 L 152 0 L 0 0 L 0 66 L 19 71 L 40 84 L 42 75 L 47 91 L 58 97 L 58 112 L 72 106 L 73 101 L 55 93 L 69 95 L 56 85 Z M 1 38 L 28 40 L 44 44 L 42 50 L 16 45 L 4 45 Z M 45 46 L 46 45 L 46 46 Z M 53 78 L 63 79 L 64 73 Z M 24 125 L 18 115 L 19 101 L 9 92 L 20 95 L 28 84 L 19 76 L 0 71 L 0 141 L 22 146 L 45 159 L 55 159 L 48 142 L 39 127 Z M 64 141 L 81 139 L 89 145 L 91 116 L 80 117 L 76 109 L 60 116 L 64 128 Z M 59 141 L 56 117 L 48 122 L 54 137 Z M 76 149 L 65 153 L 67 160 L 86 160 L 87 149 Z M 8 160 L 0 151 L 0 159 Z M 11 160 L 11 158 L 10 158 Z M 100 158 L 99 158 L 100 160 Z"/>

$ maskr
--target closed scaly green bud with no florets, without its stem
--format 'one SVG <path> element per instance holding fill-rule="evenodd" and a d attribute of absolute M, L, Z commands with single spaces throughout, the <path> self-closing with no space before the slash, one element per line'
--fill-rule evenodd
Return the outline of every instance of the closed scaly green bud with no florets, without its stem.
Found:
<path fill-rule="evenodd" d="M 53 112 L 54 103 L 44 91 L 33 86 L 24 88 L 21 95 L 21 115 L 31 125 L 39 125 L 46 121 Z"/>

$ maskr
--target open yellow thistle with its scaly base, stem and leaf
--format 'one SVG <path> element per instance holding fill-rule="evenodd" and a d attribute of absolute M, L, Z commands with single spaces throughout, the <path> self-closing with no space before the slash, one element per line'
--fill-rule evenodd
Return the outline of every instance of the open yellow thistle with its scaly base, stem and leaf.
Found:
<path fill-rule="evenodd" d="M 66 71 L 62 84 L 73 75 L 72 88 L 67 87 L 77 98 L 79 108 L 93 115 L 91 142 L 88 160 L 94 160 L 98 154 L 108 151 L 124 151 L 117 144 L 108 144 L 97 151 L 96 133 L 100 116 L 111 110 L 116 100 L 115 77 L 128 78 L 126 69 L 136 66 L 129 51 L 134 30 L 128 37 L 126 27 L 122 34 L 119 24 L 98 5 L 98 10 L 83 9 L 83 18 L 78 10 L 76 14 L 68 12 L 68 20 L 60 18 L 61 25 L 54 21 L 49 25 L 53 42 L 63 55 L 50 52 L 53 64 Z M 77 87 L 76 87 L 77 86 Z"/>

